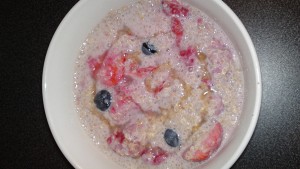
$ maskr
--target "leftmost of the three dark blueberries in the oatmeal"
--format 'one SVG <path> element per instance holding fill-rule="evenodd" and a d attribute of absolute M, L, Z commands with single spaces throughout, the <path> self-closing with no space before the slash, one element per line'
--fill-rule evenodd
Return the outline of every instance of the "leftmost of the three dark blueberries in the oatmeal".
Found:
<path fill-rule="evenodd" d="M 99 91 L 94 98 L 94 103 L 101 111 L 107 110 L 111 104 L 111 94 L 107 90 Z"/>

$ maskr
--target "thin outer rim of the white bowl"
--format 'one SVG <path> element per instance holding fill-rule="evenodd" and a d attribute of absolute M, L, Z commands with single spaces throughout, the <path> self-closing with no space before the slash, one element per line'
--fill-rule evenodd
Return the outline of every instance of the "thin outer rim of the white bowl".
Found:
<path fill-rule="evenodd" d="M 72 16 L 74 15 L 74 13 L 76 13 L 78 10 L 80 10 L 86 3 L 88 3 L 89 0 L 81 0 L 78 1 L 72 8 L 71 10 L 66 14 L 66 16 L 63 18 L 63 20 L 60 22 L 58 28 L 56 29 L 50 45 L 48 47 L 47 50 L 47 54 L 46 54 L 46 58 L 44 61 L 44 68 L 43 68 L 43 77 L 42 77 L 42 95 L 43 95 L 43 104 L 44 104 L 44 109 L 45 109 L 45 114 L 46 114 L 46 118 L 47 118 L 47 122 L 48 125 L 50 127 L 50 131 L 55 139 L 56 144 L 58 145 L 59 149 L 61 150 L 61 152 L 64 154 L 64 156 L 66 157 L 66 159 L 72 164 L 73 167 L 75 168 L 81 168 L 78 165 L 78 162 L 75 161 L 72 158 L 72 154 L 61 144 L 61 140 L 60 140 L 60 136 L 58 135 L 58 133 L 54 130 L 54 122 L 51 120 L 51 113 L 49 111 L 49 106 L 47 104 L 47 69 L 48 69 L 48 65 L 49 65 L 49 58 L 50 58 L 50 51 L 53 50 L 53 46 L 54 46 L 54 42 L 57 41 L 58 38 L 58 34 L 60 34 L 60 32 L 63 30 L 63 27 L 65 27 L 65 25 L 67 24 L 67 22 L 72 18 Z M 247 133 L 246 135 L 243 137 L 242 142 L 240 144 L 240 146 L 238 146 L 238 148 L 234 151 L 232 157 L 230 158 L 229 161 L 227 161 L 224 165 L 223 165 L 223 169 L 226 168 L 230 168 L 236 161 L 237 159 L 240 157 L 240 155 L 242 154 L 242 152 L 245 150 L 246 146 L 248 145 L 257 121 L 258 121 L 258 117 L 259 117 L 259 113 L 260 113 L 260 107 L 261 107 L 261 97 L 262 97 L 262 83 L 261 83 L 261 72 L 260 72 L 260 66 L 259 66 L 259 62 L 258 62 L 258 58 L 257 58 L 257 54 L 253 45 L 253 42 L 246 30 L 246 28 L 244 27 L 244 25 L 242 24 L 242 22 L 240 21 L 240 19 L 236 16 L 236 14 L 227 6 L 227 4 L 225 4 L 222 0 L 212 0 L 214 1 L 216 4 L 220 5 L 221 8 L 224 9 L 224 11 L 231 17 L 231 19 L 236 23 L 237 27 L 239 28 L 239 30 L 241 31 L 241 33 L 243 34 L 243 36 L 245 37 L 246 43 L 250 49 L 250 53 L 252 56 L 252 60 L 253 60 L 253 65 L 255 67 L 255 80 L 256 80 L 256 93 L 255 93 L 255 103 L 254 103 L 254 111 L 253 111 L 253 116 L 251 119 L 251 123 L 248 127 Z"/>

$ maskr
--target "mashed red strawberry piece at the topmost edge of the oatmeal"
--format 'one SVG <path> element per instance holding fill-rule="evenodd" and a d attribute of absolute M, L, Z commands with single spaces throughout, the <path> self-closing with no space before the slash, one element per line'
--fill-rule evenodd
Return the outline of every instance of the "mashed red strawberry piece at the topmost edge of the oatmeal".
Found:
<path fill-rule="evenodd" d="M 162 0 L 163 12 L 167 15 L 187 16 L 189 10 L 176 0 Z"/>

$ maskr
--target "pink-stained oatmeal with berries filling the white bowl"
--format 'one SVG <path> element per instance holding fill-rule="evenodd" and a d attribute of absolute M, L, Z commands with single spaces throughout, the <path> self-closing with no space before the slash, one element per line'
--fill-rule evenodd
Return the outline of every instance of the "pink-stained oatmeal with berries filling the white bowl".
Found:
<path fill-rule="evenodd" d="M 111 11 L 87 37 L 75 103 L 97 146 L 125 168 L 194 168 L 238 125 L 239 53 L 205 13 L 180 0 Z"/>

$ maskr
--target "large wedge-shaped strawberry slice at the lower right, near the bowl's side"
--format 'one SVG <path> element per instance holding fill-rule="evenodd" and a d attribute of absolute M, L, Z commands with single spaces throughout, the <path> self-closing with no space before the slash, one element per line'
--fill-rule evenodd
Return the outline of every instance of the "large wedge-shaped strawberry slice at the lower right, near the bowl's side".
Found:
<path fill-rule="evenodd" d="M 182 158 L 187 161 L 200 162 L 208 159 L 221 145 L 223 138 L 223 128 L 219 122 L 209 131 L 206 138 L 193 144 L 182 154 Z"/>

